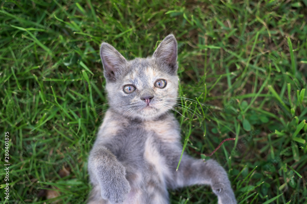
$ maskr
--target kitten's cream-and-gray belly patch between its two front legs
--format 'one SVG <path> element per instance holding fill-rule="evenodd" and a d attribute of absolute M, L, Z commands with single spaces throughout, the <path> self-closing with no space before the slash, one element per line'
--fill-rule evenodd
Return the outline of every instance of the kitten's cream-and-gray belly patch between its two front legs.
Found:
<path fill-rule="evenodd" d="M 126 178 L 131 191 L 124 204 L 167 204 L 168 191 L 165 176 L 169 176 L 169 168 L 157 147 L 156 135 L 148 133 L 144 143 L 144 152 L 138 169 L 126 163 Z M 134 166 L 134 165 L 132 165 Z"/>

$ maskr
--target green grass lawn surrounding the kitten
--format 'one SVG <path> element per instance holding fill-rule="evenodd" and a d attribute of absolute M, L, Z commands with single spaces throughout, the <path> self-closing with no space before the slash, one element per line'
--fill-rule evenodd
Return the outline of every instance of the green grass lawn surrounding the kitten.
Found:
<path fill-rule="evenodd" d="M 99 45 L 146 57 L 173 33 L 180 93 L 207 105 L 186 102 L 204 117 L 176 113 L 188 154 L 205 158 L 234 137 L 211 158 L 227 169 L 239 203 L 306 203 L 306 7 L 306 0 L 2 1 L 1 178 L 4 132 L 11 165 L 10 200 L 2 185 L 1 202 L 51 203 L 45 194 L 54 190 L 53 200 L 83 203 L 87 157 L 107 107 Z M 206 186 L 170 191 L 170 200 L 217 202 Z"/>

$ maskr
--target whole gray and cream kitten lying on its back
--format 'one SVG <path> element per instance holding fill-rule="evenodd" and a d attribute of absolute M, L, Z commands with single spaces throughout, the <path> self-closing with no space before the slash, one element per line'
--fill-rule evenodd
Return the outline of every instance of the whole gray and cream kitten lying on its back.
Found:
<path fill-rule="evenodd" d="M 184 154 L 170 110 L 178 97 L 177 41 L 168 35 L 152 57 L 127 61 L 102 43 L 110 109 L 88 159 L 88 203 L 167 204 L 168 188 L 207 184 L 218 203 L 237 203 L 225 170 Z"/>

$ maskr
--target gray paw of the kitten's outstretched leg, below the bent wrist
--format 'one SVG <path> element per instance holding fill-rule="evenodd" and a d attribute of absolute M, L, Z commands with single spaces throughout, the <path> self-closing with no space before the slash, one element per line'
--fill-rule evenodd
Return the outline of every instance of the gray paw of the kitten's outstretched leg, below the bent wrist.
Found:
<path fill-rule="evenodd" d="M 212 185 L 212 191 L 219 199 L 218 204 L 237 204 L 235 194 L 230 186 L 225 186 L 224 184 L 214 184 Z"/>

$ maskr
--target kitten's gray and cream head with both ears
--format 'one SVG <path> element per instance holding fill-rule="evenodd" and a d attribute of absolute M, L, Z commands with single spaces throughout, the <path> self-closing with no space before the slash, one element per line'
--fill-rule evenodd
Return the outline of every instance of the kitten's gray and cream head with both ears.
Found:
<path fill-rule="evenodd" d="M 102 43 L 100 57 L 109 104 L 116 114 L 153 120 L 173 107 L 178 96 L 174 35 L 168 35 L 151 57 L 127 61 L 108 43 Z"/>

